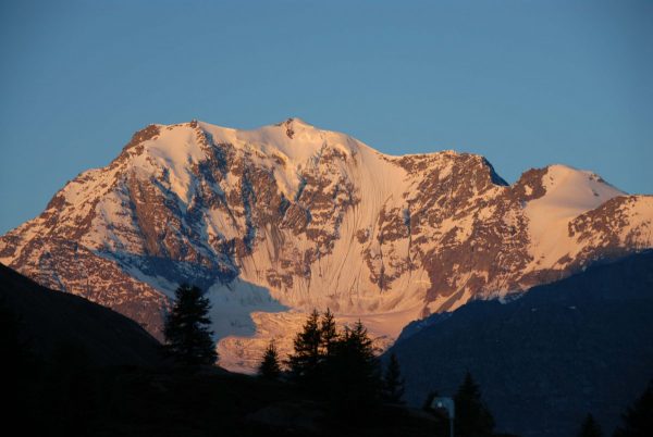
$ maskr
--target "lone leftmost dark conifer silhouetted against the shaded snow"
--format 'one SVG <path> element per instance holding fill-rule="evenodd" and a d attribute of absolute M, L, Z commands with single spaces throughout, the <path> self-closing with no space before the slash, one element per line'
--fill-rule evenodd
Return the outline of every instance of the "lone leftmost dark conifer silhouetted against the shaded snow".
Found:
<path fill-rule="evenodd" d="M 199 288 L 182 285 L 175 291 L 175 300 L 165 319 L 163 335 L 165 350 L 185 365 L 214 364 L 218 353 L 209 330 L 211 320 L 209 299 Z"/>

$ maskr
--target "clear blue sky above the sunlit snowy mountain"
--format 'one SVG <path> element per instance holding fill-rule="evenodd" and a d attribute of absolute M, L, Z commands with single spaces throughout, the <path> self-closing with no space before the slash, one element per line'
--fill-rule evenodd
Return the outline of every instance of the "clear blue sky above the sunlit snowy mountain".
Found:
<path fill-rule="evenodd" d="M 652 1 L 0 1 L 0 233 L 150 123 L 299 116 L 653 193 Z"/>

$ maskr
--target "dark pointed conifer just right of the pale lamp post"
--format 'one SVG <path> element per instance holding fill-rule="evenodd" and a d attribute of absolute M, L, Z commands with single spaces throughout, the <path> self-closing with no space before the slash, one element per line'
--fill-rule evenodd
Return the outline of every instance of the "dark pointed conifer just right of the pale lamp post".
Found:
<path fill-rule="evenodd" d="M 479 385 L 467 372 L 465 380 L 454 396 L 456 403 L 455 429 L 457 437 L 491 436 L 494 419 L 481 399 Z"/>

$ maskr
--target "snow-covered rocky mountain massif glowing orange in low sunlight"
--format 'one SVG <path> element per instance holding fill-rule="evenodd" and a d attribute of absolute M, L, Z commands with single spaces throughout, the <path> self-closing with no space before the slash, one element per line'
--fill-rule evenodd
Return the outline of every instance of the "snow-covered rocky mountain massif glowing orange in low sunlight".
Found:
<path fill-rule="evenodd" d="M 148 126 L 66 184 L 0 237 L 0 262 L 156 336 L 176 285 L 197 284 L 222 363 L 251 369 L 312 308 L 389 342 L 420 316 L 652 247 L 652 221 L 653 197 L 563 165 L 507 185 L 479 155 L 385 155 L 298 118 L 190 122 Z"/>

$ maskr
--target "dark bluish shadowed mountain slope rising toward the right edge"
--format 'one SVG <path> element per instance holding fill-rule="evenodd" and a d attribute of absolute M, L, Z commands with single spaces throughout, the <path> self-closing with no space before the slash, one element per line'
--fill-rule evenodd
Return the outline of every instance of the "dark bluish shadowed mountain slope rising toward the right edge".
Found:
<path fill-rule="evenodd" d="M 409 402 L 452 395 L 470 371 L 502 430 L 574 435 L 591 412 L 612 433 L 653 377 L 653 253 L 421 324 L 392 348 Z"/>

